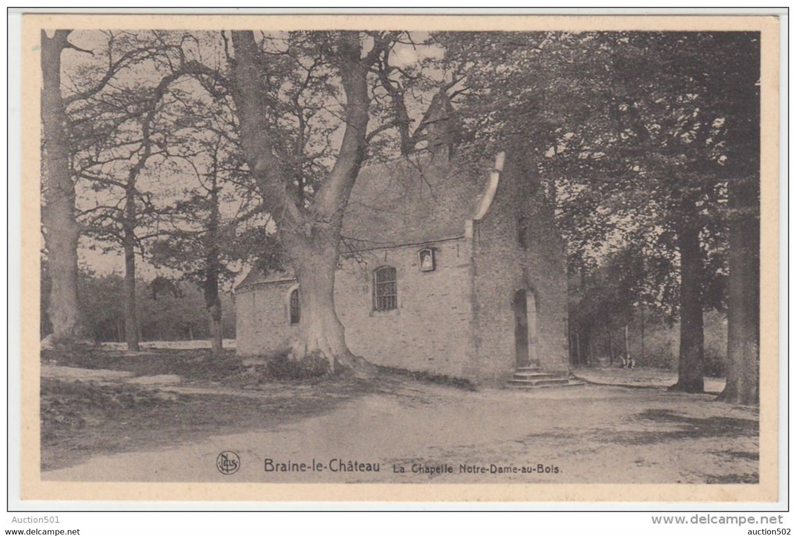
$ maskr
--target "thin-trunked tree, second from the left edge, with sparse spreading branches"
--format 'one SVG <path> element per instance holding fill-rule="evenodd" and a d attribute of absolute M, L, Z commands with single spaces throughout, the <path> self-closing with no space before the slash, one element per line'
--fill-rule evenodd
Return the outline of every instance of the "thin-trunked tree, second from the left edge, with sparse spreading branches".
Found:
<path fill-rule="evenodd" d="M 168 199 L 153 194 L 142 181 L 168 173 L 171 155 L 168 139 L 179 126 L 168 113 L 170 86 L 189 75 L 181 44 L 171 44 L 160 33 L 138 36 L 149 42 L 150 56 L 139 69 L 140 78 L 129 78 L 88 100 L 88 118 L 80 131 L 85 139 L 76 166 L 78 177 L 88 181 L 87 192 L 95 198 L 80 213 L 92 237 L 119 248 L 124 260 L 124 310 L 127 349 L 139 350 L 139 319 L 136 307 L 136 257 L 144 243 L 160 236 L 158 229 Z M 141 84 L 141 79 L 154 84 Z M 157 181 L 150 181 L 156 184 Z"/>

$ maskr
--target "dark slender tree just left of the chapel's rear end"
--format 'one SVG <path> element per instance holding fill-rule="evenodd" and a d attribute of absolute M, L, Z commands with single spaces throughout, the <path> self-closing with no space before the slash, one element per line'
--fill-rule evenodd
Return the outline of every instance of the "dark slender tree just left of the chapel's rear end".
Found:
<path fill-rule="evenodd" d="M 168 233 L 150 246 L 149 260 L 156 267 L 177 270 L 182 280 L 201 288 L 211 346 L 218 356 L 223 350 L 220 296 L 239 275 L 236 267 L 254 263 L 271 270 L 281 264 L 279 247 L 267 230 L 269 219 L 252 193 L 240 187 L 244 172 L 238 166 L 236 146 L 216 124 L 220 118 L 193 112 L 189 115 L 201 120 L 181 136 L 179 145 L 192 153 L 186 158 L 197 181 L 171 207 Z"/>

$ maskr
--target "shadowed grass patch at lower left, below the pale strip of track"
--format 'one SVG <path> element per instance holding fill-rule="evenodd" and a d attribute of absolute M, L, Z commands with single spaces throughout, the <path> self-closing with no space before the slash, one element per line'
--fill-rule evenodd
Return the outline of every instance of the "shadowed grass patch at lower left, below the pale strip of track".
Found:
<path fill-rule="evenodd" d="M 356 380 L 279 383 L 228 393 L 173 393 L 138 385 L 41 381 L 41 468 L 92 456 L 171 447 L 323 415 L 373 392 Z"/>

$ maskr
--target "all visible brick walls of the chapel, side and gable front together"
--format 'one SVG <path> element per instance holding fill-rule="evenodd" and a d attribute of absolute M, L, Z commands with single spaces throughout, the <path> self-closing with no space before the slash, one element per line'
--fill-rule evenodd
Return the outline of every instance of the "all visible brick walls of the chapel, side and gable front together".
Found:
<path fill-rule="evenodd" d="M 527 249 L 517 241 L 520 216 L 528 219 Z M 342 261 L 335 302 L 355 354 L 379 365 L 504 380 L 515 364 L 514 293 L 528 289 L 537 313 L 531 353 L 545 370 L 568 370 L 564 247 L 533 168 L 509 155 L 494 201 L 474 225 L 474 236 L 433 247 L 434 272 L 419 270 L 419 245 L 363 252 Z M 380 266 L 396 268 L 394 311 L 373 311 L 373 271 Z M 294 285 L 283 281 L 240 289 L 240 355 L 287 349 L 297 329 L 290 325 L 288 307 Z"/>

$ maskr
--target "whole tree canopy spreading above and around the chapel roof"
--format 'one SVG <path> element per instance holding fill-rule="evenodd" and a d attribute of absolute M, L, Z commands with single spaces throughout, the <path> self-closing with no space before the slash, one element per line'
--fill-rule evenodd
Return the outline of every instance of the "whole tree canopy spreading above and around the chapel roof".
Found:
<path fill-rule="evenodd" d="M 419 35 L 69 34 L 61 90 L 83 233 L 182 292 L 139 289 L 145 338 L 205 333 L 203 311 L 250 266 L 334 267 L 360 166 L 423 150 L 431 95 L 454 102 L 470 158 L 509 148 L 536 163 L 568 245 L 571 326 L 726 310 L 728 222 L 759 213 L 756 195 L 728 209 L 759 164 L 759 34 Z M 681 307 L 685 279 L 696 311 Z M 118 338 L 119 276 L 82 274 L 80 295 L 95 337 Z"/>

